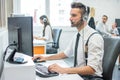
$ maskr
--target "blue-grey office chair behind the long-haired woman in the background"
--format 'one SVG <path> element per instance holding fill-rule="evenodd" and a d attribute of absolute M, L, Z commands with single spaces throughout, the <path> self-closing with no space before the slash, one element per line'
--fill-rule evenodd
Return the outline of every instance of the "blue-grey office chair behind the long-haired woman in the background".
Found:
<path fill-rule="evenodd" d="M 53 42 L 51 46 L 47 47 L 46 49 L 47 54 L 53 54 L 58 52 L 61 32 L 62 29 L 53 29 Z"/>

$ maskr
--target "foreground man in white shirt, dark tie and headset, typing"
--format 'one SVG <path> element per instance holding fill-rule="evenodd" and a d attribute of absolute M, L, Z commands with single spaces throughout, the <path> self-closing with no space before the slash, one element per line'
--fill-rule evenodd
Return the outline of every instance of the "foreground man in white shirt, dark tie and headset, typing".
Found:
<path fill-rule="evenodd" d="M 84 47 L 88 37 L 96 32 L 90 28 L 86 23 L 86 7 L 82 3 L 74 2 L 71 5 L 70 21 L 71 26 L 76 27 L 78 32 L 73 36 L 71 43 L 67 46 L 64 52 L 52 55 L 52 56 L 36 56 L 33 59 L 40 58 L 40 60 L 54 60 L 71 57 L 77 52 L 77 62 L 72 68 L 64 68 L 57 64 L 49 66 L 50 71 L 67 74 L 80 74 L 80 75 L 92 75 L 102 77 L 102 56 L 104 41 L 100 34 L 94 34 L 91 36 L 88 42 L 88 59 L 87 65 L 85 62 Z M 87 15 L 85 15 L 87 14 Z M 80 35 L 78 42 L 76 43 L 77 35 Z M 76 47 L 76 44 L 78 47 Z M 76 51 L 77 48 L 77 51 Z"/>

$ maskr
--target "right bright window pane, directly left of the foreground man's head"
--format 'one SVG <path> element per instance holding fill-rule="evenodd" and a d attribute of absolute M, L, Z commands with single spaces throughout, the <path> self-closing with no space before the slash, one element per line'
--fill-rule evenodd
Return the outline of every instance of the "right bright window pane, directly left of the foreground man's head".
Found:
<path fill-rule="evenodd" d="M 50 21 L 53 26 L 69 26 L 71 2 L 73 0 L 51 0 Z"/>

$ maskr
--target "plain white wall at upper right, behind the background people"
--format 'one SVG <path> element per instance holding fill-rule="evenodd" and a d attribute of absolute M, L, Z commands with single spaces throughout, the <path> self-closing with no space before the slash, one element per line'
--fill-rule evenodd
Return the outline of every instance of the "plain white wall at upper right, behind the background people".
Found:
<path fill-rule="evenodd" d="M 115 18 L 120 18 L 120 0 L 74 0 L 95 8 L 95 20 L 100 21 L 103 14 L 108 16 L 111 25 Z"/>

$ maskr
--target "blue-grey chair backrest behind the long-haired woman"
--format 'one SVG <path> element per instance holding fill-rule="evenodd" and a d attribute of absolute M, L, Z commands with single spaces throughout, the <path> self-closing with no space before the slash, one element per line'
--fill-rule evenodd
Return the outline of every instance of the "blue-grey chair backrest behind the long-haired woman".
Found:
<path fill-rule="evenodd" d="M 61 35 L 62 29 L 53 29 L 53 45 L 52 47 L 58 49 L 59 48 L 59 39 Z"/>

